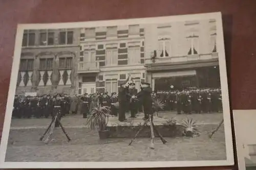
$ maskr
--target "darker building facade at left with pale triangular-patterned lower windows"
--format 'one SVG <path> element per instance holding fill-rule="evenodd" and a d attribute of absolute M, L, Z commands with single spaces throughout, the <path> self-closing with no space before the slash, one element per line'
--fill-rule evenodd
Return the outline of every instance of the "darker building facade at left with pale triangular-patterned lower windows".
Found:
<path fill-rule="evenodd" d="M 79 29 L 25 30 L 16 93 L 75 93 Z"/>

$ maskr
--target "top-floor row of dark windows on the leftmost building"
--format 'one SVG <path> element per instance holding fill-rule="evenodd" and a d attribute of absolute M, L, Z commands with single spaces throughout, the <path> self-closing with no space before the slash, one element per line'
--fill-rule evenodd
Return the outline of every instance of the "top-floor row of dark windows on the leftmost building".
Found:
<path fill-rule="evenodd" d="M 23 34 L 22 46 L 45 46 L 45 45 L 65 45 L 73 44 L 73 31 L 25 30 Z"/>

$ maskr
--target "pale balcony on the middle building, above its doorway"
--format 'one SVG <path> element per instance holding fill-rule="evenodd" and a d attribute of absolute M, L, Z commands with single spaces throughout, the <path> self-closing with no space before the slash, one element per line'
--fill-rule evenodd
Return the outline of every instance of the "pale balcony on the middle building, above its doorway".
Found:
<path fill-rule="evenodd" d="M 78 62 L 78 69 L 77 69 L 78 74 L 97 73 L 97 72 L 100 72 L 98 61 L 93 61 L 93 62 L 79 61 Z"/>

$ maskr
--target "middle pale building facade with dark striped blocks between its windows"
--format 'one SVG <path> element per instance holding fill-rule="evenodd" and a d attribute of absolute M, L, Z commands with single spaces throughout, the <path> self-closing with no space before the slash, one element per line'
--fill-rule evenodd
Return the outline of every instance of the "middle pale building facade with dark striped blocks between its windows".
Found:
<path fill-rule="evenodd" d="M 139 25 L 83 28 L 78 93 L 117 92 L 127 77 L 145 81 L 144 29 Z"/>

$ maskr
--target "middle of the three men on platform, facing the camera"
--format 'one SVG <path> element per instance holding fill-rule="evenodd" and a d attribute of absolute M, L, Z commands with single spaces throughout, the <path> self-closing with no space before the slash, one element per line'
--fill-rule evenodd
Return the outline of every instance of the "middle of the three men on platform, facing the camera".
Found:
<path fill-rule="evenodd" d="M 136 95 L 138 93 L 138 90 L 135 88 L 135 83 L 134 82 L 129 84 L 129 90 L 128 91 L 129 91 L 129 94 L 131 96 Z M 136 114 L 138 113 L 137 102 L 136 102 L 135 99 L 131 100 L 130 102 L 131 103 L 130 103 L 129 108 L 130 108 L 130 111 L 131 111 L 131 117 L 135 118 Z"/>

